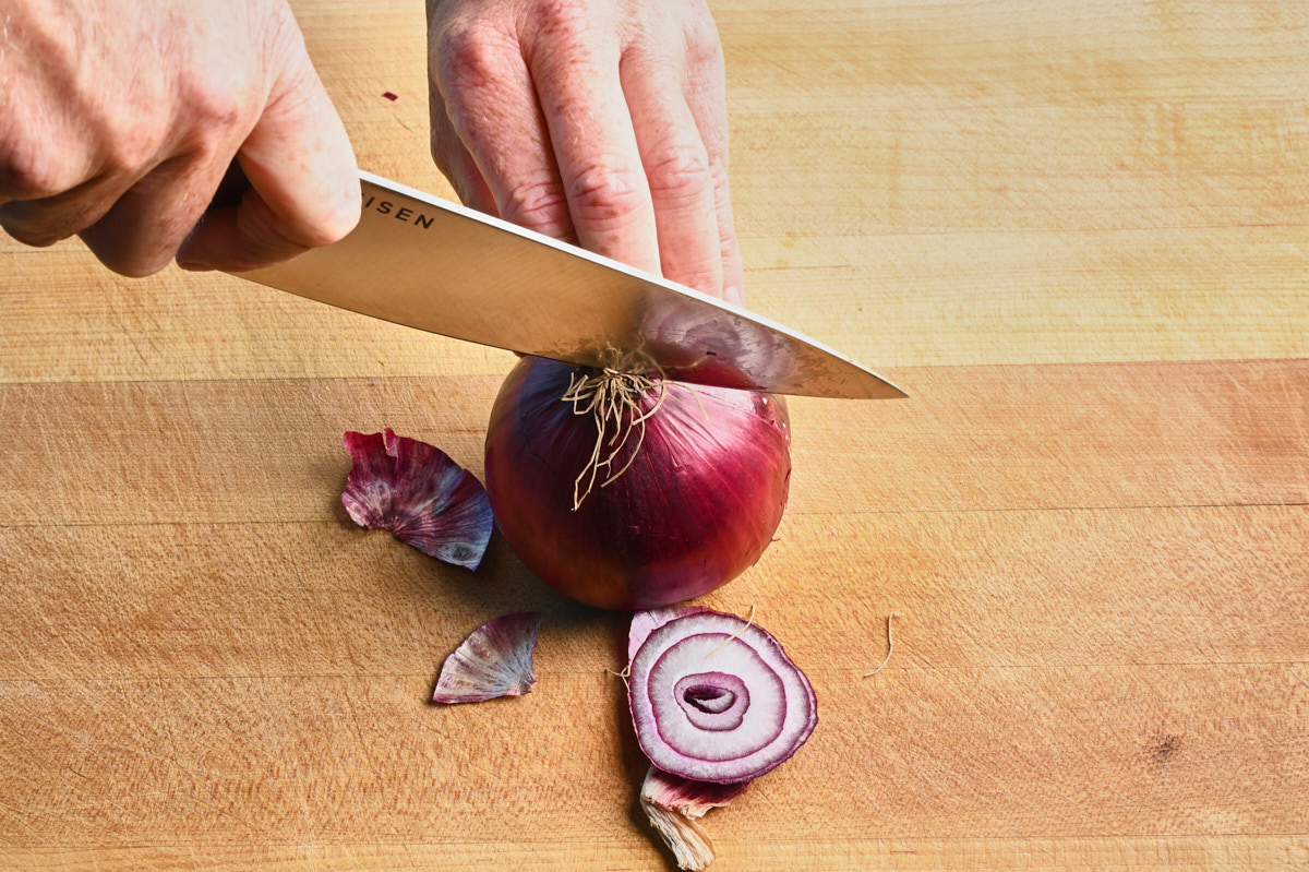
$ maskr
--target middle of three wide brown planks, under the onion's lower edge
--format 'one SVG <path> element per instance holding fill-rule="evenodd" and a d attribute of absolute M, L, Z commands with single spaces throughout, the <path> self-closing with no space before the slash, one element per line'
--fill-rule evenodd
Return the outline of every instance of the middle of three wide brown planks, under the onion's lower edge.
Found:
<path fill-rule="evenodd" d="M 0 680 L 421 676 L 539 610 L 546 674 L 622 666 L 626 618 L 546 589 L 499 539 L 476 572 L 336 524 L 0 530 Z M 1309 508 L 802 516 L 706 604 L 806 668 L 1300 664 Z"/>

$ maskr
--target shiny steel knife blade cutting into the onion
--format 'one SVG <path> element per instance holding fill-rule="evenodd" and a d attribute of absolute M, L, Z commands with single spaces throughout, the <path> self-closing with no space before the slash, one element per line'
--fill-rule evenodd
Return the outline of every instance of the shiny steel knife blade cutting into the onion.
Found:
<path fill-rule="evenodd" d="M 395 323 L 588 367 L 783 394 L 905 391 L 767 318 L 372 173 L 346 238 L 243 279 Z"/>

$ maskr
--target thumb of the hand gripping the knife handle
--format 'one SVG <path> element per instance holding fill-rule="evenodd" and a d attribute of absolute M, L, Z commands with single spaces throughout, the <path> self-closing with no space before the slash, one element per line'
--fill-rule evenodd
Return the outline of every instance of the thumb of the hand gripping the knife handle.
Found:
<path fill-rule="evenodd" d="M 178 250 L 183 268 L 254 270 L 330 245 L 359 223 L 350 137 L 302 38 L 237 152 L 250 189 L 216 206 Z"/>

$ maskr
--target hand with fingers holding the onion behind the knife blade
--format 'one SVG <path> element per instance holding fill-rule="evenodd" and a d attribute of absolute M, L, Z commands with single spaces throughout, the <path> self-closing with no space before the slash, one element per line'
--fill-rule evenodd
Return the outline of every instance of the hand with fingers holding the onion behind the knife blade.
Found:
<path fill-rule="evenodd" d="M 466 204 L 744 300 L 703 0 L 428 0 L 428 72 L 432 156 Z"/>

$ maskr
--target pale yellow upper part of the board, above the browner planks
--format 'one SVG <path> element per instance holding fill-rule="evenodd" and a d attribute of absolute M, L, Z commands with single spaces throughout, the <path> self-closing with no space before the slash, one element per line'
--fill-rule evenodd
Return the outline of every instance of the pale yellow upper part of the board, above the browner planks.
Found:
<path fill-rule="evenodd" d="M 420 4 L 297 8 L 360 165 L 449 195 Z M 758 312 L 873 368 L 1309 355 L 1302 4 L 712 8 Z M 0 264 L 0 381 L 508 368 L 228 276 L 117 280 L 76 244 Z"/>

